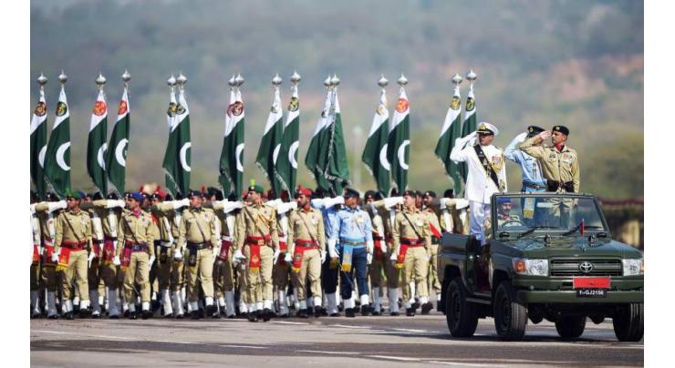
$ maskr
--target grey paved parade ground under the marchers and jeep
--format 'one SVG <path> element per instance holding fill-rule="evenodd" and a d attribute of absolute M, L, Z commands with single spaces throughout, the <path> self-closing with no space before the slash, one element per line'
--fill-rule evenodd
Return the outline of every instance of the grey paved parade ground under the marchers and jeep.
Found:
<path fill-rule="evenodd" d="M 440 312 L 415 317 L 321 317 L 251 323 L 236 319 L 33 320 L 34 367 L 89 366 L 642 366 L 643 342 L 618 342 L 611 320 L 587 322 L 565 341 L 550 322 L 502 342 L 493 319 L 454 339 Z M 393 365 L 392 365 L 393 364 Z"/>

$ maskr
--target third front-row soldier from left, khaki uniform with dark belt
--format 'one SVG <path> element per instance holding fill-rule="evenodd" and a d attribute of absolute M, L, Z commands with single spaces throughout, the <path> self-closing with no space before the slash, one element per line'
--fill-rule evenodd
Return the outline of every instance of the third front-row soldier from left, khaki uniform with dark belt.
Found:
<path fill-rule="evenodd" d="M 199 285 L 205 296 L 206 315 L 213 315 L 213 260 L 220 250 L 218 230 L 213 210 L 202 206 L 203 193 L 192 190 L 189 196 L 190 209 L 182 213 L 181 229 L 178 234 L 176 251 L 186 249 L 188 301 L 192 310 L 192 319 L 201 318 L 199 312 Z"/>

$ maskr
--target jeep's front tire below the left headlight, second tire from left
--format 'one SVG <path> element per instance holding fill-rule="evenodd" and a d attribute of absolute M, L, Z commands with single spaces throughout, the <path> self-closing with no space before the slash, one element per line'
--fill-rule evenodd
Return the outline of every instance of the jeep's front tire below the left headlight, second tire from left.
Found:
<path fill-rule="evenodd" d="M 527 310 L 516 297 L 511 281 L 504 280 L 493 300 L 494 328 L 502 340 L 522 340 L 527 325 Z"/>

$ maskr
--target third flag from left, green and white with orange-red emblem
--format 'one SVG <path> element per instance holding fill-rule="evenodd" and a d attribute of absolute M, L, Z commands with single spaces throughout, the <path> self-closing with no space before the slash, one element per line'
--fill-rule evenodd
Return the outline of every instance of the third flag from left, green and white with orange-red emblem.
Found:
<path fill-rule="evenodd" d="M 87 172 L 96 188 L 104 197 L 108 194 L 106 178 L 106 137 L 108 135 L 108 107 L 106 106 L 103 88 L 99 89 L 99 97 L 91 110 L 89 122 L 89 138 L 87 143 Z"/>

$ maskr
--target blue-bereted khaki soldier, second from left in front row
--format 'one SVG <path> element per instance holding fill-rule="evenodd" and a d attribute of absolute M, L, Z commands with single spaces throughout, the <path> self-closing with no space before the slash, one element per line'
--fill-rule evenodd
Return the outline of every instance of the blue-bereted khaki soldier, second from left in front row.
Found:
<path fill-rule="evenodd" d="M 150 312 L 150 267 L 155 260 L 153 229 L 155 226 L 150 214 L 140 209 L 143 196 L 139 192 L 131 193 L 127 199 L 127 210 L 122 214 L 118 225 L 118 246 L 114 263 L 120 265 L 124 273 L 125 301 L 129 303 L 130 319 L 135 320 L 136 305 L 134 283 L 139 286 L 142 318 L 151 317 Z"/>

